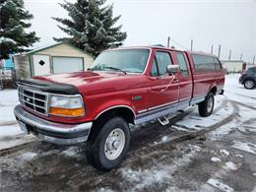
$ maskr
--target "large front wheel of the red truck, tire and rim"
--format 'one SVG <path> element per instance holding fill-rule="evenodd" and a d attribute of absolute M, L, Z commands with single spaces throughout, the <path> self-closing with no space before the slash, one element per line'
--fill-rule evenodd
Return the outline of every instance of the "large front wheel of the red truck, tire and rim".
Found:
<path fill-rule="evenodd" d="M 102 125 L 95 137 L 91 137 L 86 156 L 97 169 L 110 170 L 125 158 L 129 145 L 128 123 L 121 117 L 114 117 Z"/>

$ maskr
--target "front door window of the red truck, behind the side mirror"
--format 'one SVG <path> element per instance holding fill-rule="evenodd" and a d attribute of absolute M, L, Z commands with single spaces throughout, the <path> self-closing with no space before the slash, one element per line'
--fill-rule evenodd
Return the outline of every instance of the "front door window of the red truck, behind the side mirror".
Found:
<path fill-rule="evenodd" d="M 157 51 L 157 64 L 159 67 L 159 75 L 164 75 L 167 72 L 167 65 L 171 65 L 170 55 L 167 52 Z"/>

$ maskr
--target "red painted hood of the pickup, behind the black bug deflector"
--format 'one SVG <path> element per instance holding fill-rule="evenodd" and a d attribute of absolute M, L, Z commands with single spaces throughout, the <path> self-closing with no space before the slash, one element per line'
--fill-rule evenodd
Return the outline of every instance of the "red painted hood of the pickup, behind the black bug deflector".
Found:
<path fill-rule="evenodd" d="M 85 95 L 95 95 L 105 92 L 126 90 L 131 86 L 131 82 L 138 82 L 143 75 L 124 74 L 122 72 L 76 72 L 67 74 L 57 74 L 49 76 L 33 77 L 36 80 L 61 83 L 75 86 L 79 93 Z"/>

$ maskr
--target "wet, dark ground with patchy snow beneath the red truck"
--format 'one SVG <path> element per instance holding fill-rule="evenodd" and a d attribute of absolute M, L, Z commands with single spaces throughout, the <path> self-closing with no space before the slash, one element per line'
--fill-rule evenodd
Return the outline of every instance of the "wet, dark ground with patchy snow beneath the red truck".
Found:
<path fill-rule="evenodd" d="M 85 145 L 1 150 L 0 191 L 256 191 L 256 96 L 230 94 L 209 119 L 194 106 L 167 126 L 133 127 L 127 159 L 109 172 L 87 162 Z"/>

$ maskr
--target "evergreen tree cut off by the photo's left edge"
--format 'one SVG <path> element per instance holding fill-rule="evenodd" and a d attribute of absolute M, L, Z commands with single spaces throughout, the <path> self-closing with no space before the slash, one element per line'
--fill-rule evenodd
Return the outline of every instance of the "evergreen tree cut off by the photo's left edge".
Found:
<path fill-rule="evenodd" d="M 32 26 L 26 22 L 31 19 L 23 0 L 0 0 L 0 60 L 9 58 L 10 53 L 29 50 L 39 40 L 35 32 L 25 32 Z"/>

